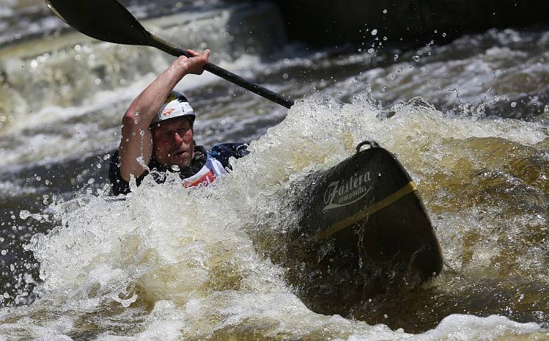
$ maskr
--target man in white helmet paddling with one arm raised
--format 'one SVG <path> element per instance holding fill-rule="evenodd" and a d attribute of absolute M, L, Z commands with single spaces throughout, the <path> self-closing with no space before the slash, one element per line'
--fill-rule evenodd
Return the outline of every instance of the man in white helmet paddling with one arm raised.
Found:
<path fill-rule="evenodd" d="M 166 172 L 177 172 L 185 187 L 208 186 L 230 169 L 229 157 L 248 153 L 248 145 L 243 143 L 218 144 L 211 151 L 195 144 L 196 114 L 174 87 L 185 75 L 201 75 L 210 51 L 187 52 L 191 58 L 175 60 L 124 114 L 120 146 L 110 158 L 113 194 L 127 194 L 132 177 L 139 186 L 150 173 L 158 183 L 165 181 Z"/>

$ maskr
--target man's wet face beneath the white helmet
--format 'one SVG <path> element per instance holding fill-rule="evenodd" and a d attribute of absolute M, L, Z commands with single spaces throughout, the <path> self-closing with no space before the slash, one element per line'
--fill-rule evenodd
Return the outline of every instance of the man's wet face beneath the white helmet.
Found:
<path fill-rule="evenodd" d="M 187 118 L 172 119 L 154 125 L 152 155 L 164 166 L 189 166 L 194 155 L 193 131 Z"/>

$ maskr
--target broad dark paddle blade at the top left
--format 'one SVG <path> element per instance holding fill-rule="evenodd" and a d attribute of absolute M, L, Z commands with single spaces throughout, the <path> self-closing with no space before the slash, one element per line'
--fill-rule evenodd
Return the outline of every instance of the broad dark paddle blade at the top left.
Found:
<path fill-rule="evenodd" d="M 46 5 L 86 36 L 124 45 L 150 45 L 150 33 L 117 0 L 46 0 Z"/>

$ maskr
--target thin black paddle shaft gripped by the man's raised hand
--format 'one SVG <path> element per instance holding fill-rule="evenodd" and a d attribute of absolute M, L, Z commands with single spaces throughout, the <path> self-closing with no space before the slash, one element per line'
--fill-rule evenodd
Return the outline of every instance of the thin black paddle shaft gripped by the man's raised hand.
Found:
<path fill-rule="evenodd" d="M 151 38 L 152 40 L 151 40 L 150 46 L 152 47 L 161 49 L 162 51 L 166 53 L 170 53 L 170 55 L 174 55 L 175 57 L 179 57 L 180 55 L 185 55 L 185 57 L 188 57 L 188 58 L 192 57 L 187 51 L 180 49 L 179 47 L 176 47 L 170 42 L 167 42 L 154 35 L 151 35 Z M 255 94 L 259 94 L 259 96 L 265 97 L 266 99 L 269 99 L 274 103 L 283 105 L 288 109 L 290 109 L 292 105 L 294 105 L 294 101 L 292 101 L 292 99 L 287 99 L 283 97 L 281 94 L 277 94 L 277 92 L 273 92 L 267 88 L 264 88 L 263 86 L 259 86 L 255 83 L 252 83 L 251 81 L 248 81 L 248 79 L 244 79 L 239 75 L 235 75 L 231 71 L 227 71 L 224 68 L 221 68 L 220 66 L 208 63 L 204 66 L 204 69 L 210 73 L 213 73 L 216 76 L 222 77 L 223 79 L 230 81 L 233 84 L 236 84 L 237 86 L 242 86 L 242 88 L 245 88 L 246 90 L 250 90 Z"/>

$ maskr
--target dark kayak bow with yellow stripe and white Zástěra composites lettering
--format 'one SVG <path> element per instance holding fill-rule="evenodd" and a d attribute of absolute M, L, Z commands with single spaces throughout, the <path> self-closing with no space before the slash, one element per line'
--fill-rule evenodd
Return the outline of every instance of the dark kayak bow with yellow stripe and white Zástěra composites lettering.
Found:
<path fill-rule="evenodd" d="M 280 260 L 309 309 L 346 314 L 441 273 L 441 248 L 417 187 L 377 143 L 362 142 L 353 156 L 303 183 L 293 203 L 297 227 Z"/>

